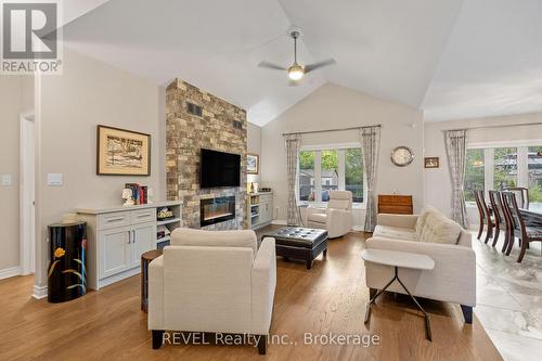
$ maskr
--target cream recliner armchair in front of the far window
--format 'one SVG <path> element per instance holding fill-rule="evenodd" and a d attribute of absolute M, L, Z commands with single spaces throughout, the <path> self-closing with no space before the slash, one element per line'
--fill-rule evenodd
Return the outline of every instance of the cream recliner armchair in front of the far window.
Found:
<path fill-rule="evenodd" d="M 352 230 L 352 193 L 330 191 L 327 209 L 307 208 L 307 227 L 327 230 L 330 238 L 350 232 Z"/>

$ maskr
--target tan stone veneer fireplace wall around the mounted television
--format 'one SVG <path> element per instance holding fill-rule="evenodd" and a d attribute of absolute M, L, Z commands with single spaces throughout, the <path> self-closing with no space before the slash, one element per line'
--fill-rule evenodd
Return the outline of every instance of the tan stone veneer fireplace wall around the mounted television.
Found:
<path fill-rule="evenodd" d="M 186 102 L 202 106 L 203 116 L 189 114 Z M 241 129 L 233 120 L 241 121 Z M 204 229 L 246 228 L 246 112 L 176 79 L 166 89 L 166 123 L 167 197 L 183 202 L 183 227 L 201 228 L 199 199 L 235 195 L 235 219 Z M 199 188 L 202 147 L 241 154 L 240 188 Z"/>

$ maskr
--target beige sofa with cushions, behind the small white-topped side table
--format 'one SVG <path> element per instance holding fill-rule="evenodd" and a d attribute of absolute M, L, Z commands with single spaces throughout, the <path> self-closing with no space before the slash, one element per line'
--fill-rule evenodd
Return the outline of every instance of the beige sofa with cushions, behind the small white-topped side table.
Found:
<path fill-rule="evenodd" d="M 400 269 L 399 276 L 414 296 L 461 305 L 465 322 L 472 322 L 476 306 L 476 255 L 470 234 L 433 207 L 417 216 L 378 215 L 377 227 L 367 248 L 428 255 L 435 269 Z M 393 278 L 393 268 L 365 262 L 366 285 L 371 294 Z M 404 293 L 399 284 L 388 288 Z"/>

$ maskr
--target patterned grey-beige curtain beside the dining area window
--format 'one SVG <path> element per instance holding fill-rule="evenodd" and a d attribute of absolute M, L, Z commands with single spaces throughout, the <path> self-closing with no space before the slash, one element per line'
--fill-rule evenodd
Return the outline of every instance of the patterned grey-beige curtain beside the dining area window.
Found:
<path fill-rule="evenodd" d="M 467 208 L 465 205 L 465 167 L 467 157 L 467 130 L 446 130 L 444 144 L 450 182 L 452 185 L 452 219 L 468 228 Z"/>

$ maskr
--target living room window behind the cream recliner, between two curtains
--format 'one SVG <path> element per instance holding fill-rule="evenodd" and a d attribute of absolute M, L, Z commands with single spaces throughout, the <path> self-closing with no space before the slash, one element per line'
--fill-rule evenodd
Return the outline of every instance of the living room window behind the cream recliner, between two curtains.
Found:
<path fill-rule="evenodd" d="M 363 203 L 363 157 L 360 146 L 325 147 L 299 152 L 299 201 L 327 202 L 330 191 L 352 192 Z"/>

